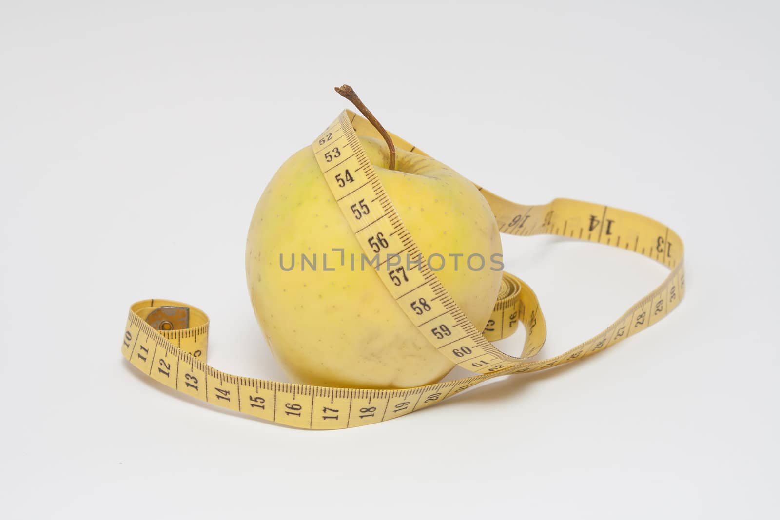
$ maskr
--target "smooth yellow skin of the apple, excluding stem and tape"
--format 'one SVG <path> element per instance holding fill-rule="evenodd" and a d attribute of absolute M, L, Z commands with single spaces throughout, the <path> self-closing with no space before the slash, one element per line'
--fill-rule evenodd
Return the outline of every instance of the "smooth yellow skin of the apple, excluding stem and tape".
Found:
<path fill-rule="evenodd" d="M 424 258 L 445 256 L 436 274 L 481 331 L 502 278 L 491 270 L 491 255 L 502 253 L 502 246 L 487 201 L 470 181 L 431 157 L 398 150 L 395 170 L 388 170 L 384 142 L 361 137 L 360 143 Z M 333 248 L 344 249 L 343 267 Z M 292 271 L 282 270 L 280 253 L 285 267 L 295 253 Z M 301 253 L 317 254 L 317 271 L 308 265 L 301 271 Z M 323 253 L 335 271 L 323 270 Z M 374 268 L 360 270 L 361 253 L 313 151 L 303 148 L 269 182 L 246 240 L 250 298 L 276 359 L 291 380 L 303 384 L 398 388 L 440 380 L 454 365 L 414 327 Z M 450 253 L 463 254 L 457 270 Z M 484 257 L 483 269 L 466 266 L 472 253 Z M 438 260 L 431 264 L 438 267 Z"/>

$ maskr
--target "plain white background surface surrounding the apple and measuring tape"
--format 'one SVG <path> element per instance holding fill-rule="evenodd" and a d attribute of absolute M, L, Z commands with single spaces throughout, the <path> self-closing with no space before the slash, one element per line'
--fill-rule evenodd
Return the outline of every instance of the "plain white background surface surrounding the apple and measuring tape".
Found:
<path fill-rule="evenodd" d="M 776 518 L 777 4 L 521 3 L 2 2 L 2 516 Z M 583 363 L 355 430 L 145 380 L 119 347 L 153 297 L 210 313 L 218 368 L 283 377 L 246 230 L 342 83 L 513 200 L 664 221 L 686 299 Z M 504 248 L 547 355 L 665 276 L 551 237 Z"/>

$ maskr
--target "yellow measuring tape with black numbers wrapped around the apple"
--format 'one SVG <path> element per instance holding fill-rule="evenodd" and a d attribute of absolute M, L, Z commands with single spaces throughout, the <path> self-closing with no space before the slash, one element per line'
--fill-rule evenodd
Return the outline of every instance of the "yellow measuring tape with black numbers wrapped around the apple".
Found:
<path fill-rule="evenodd" d="M 391 255 L 403 252 L 417 258 L 420 250 L 396 213 L 358 135 L 381 138 L 366 119 L 343 111 L 312 144 L 334 200 L 367 255 L 372 253 L 367 239 L 382 233 Z M 398 136 L 391 136 L 395 147 L 427 155 Z M 338 148 L 339 161 L 333 161 L 334 148 Z M 346 169 L 354 181 L 349 193 L 342 194 L 343 186 L 335 176 Z M 683 298 L 683 242 L 658 221 L 579 200 L 556 199 L 540 206 L 525 206 L 477 187 L 490 204 L 501 232 L 561 235 L 629 249 L 658 260 L 671 273 L 594 338 L 559 356 L 541 360 L 528 358 L 544 345 L 544 316 L 534 292 L 512 274 L 503 274 L 498 301 L 484 331 L 478 331 L 466 318 L 425 262 L 418 269 L 405 271 L 403 278 L 381 275 L 395 301 L 431 345 L 452 363 L 478 374 L 421 387 L 315 387 L 224 373 L 206 364 L 206 314 L 197 307 L 170 300 L 145 300 L 130 307 L 122 354 L 152 379 L 213 405 L 288 426 L 332 430 L 403 416 L 492 377 L 534 372 L 583 359 L 655 324 Z M 366 214 L 374 219 L 366 222 L 353 218 L 355 205 L 360 207 L 366 201 L 372 204 Z M 424 307 L 412 305 L 421 300 Z M 526 330 L 521 356 L 509 356 L 492 345 L 491 341 L 506 338 L 519 324 Z"/>

